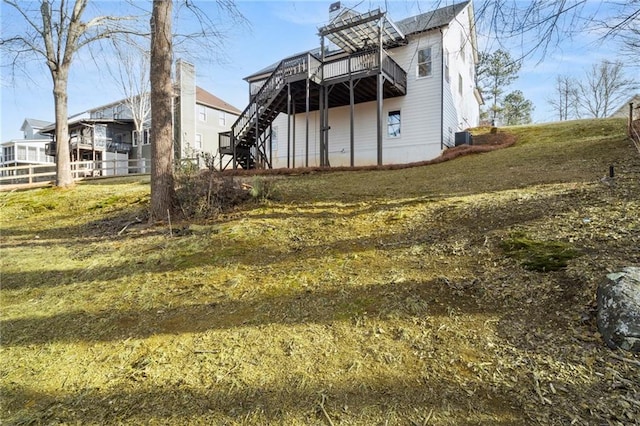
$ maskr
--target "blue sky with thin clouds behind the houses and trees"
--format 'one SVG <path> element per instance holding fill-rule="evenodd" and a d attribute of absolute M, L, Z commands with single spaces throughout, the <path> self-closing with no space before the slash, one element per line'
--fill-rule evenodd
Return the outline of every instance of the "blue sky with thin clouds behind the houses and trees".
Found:
<path fill-rule="evenodd" d="M 148 8 L 147 1 L 138 5 Z M 328 10 L 332 0 L 327 1 L 237 1 L 236 6 L 245 22 L 237 22 L 224 16 L 215 1 L 195 3 L 207 16 L 219 25 L 224 39 L 215 52 L 203 52 L 198 43 L 187 46 L 187 51 L 176 48 L 175 57 L 183 57 L 196 66 L 197 85 L 243 110 L 248 102 L 248 84 L 244 77 L 279 60 L 319 46 L 318 27 L 328 22 Z M 360 11 L 381 7 L 387 10 L 392 20 L 423 13 L 439 6 L 457 3 L 454 0 L 359 0 L 342 1 L 343 6 Z M 474 4 L 479 3 L 478 0 Z M 525 2 L 526 3 L 526 2 Z M 587 0 L 582 7 L 591 8 L 596 15 L 611 13 L 606 1 Z M 134 3 L 134 6 L 136 3 Z M 118 1 L 94 1 L 87 9 L 87 17 L 95 14 L 121 14 L 122 3 Z M 193 15 L 184 9 L 174 10 L 174 29 L 188 31 L 194 28 Z M 6 4 L 0 6 L 0 27 L 5 34 L 24 30 L 24 24 L 15 11 Z M 527 39 L 527 37 L 529 37 Z M 534 122 L 555 119 L 548 103 L 553 94 L 555 78 L 570 75 L 581 78 L 588 68 L 602 60 L 617 59 L 618 46 L 612 41 L 600 42 L 601 34 L 585 31 L 573 37 L 553 40 L 543 55 L 536 51 L 526 57 L 518 79 L 510 90 L 521 90 L 525 98 L 535 106 Z M 519 57 L 522 52 L 539 44 L 532 36 L 519 39 L 502 39 L 510 53 Z M 495 50 L 500 47 L 497 40 L 486 34 L 478 34 L 479 48 Z M 7 62 L 3 58 L 3 65 Z M 81 113 L 89 108 L 122 99 L 124 97 L 117 82 L 104 71 L 104 61 L 115 60 L 100 56 L 88 49 L 81 50 L 74 58 L 69 77 L 69 114 Z M 639 61 L 640 62 L 640 61 Z M 630 67 L 627 77 L 640 80 L 640 69 Z M 634 74 L 635 73 L 635 74 Z M 54 120 L 52 83 L 48 69 L 40 60 L 30 60 L 20 64 L 17 70 L 0 68 L 1 141 L 23 137 L 20 127 L 25 118 L 46 121 Z M 638 89 L 640 91 L 640 89 Z M 631 96 L 631 94 L 630 94 Z"/>

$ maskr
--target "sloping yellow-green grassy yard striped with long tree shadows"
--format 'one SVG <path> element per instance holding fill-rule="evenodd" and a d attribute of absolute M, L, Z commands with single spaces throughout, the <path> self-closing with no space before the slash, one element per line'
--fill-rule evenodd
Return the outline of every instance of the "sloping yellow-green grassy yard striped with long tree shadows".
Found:
<path fill-rule="evenodd" d="M 504 131 L 171 229 L 148 178 L 1 193 L 0 422 L 637 424 L 594 307 L 640 265 L 640 156 L 621 120 Z"/>

